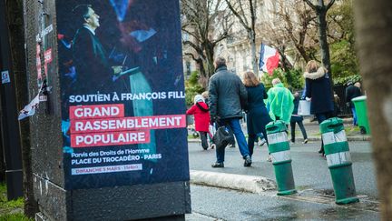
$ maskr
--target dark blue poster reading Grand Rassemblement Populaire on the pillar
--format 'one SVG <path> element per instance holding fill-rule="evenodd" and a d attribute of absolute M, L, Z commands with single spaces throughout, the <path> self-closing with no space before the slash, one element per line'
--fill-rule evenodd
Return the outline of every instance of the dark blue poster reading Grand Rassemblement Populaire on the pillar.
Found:
<path fill-rule="evenodd" d="M 188 181 L 179 1 L 56 10 L 65 188 Z"/>

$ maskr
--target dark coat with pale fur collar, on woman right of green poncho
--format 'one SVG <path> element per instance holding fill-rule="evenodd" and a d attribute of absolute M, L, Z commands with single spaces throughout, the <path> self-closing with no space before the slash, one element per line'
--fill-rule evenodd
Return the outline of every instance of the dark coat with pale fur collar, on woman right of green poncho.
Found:
<path fill-rule="evenodd" d="M 319 67 L 316 72 L 305 72 L 306 96 L 311 98 L 310 114 L 331 113 L 334 111 L 332 89 L 327 70 Z"/>

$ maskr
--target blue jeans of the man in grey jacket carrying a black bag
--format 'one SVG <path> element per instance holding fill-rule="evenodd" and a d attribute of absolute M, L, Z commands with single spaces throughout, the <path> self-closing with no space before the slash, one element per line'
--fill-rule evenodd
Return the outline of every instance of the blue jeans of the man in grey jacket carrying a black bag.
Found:
<path fill-rule="evenodd" d="M 250 156 L 250 151 L 246 143 L 245 136 L 240 127 L 240 119 L 234 118 L 234 119 L 221 120 L 220 125 L 230 126 L 234 136 L 237 139 L 241 156 L 243 158 L 245 158 L 246 156 Z M 217 163 L 224 162 L 224 154 L 225 154 L 225 148 L 216 148 Z"/>

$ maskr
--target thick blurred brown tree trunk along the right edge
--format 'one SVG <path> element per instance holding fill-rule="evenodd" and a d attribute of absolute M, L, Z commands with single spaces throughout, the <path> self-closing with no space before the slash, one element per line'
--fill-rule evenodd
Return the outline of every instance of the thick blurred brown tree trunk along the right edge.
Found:
<path fill-rule="evenodd" d="M 381 216 L 389 220 L 392 217 L 392 2 L 357 0 L 353 5 L 358 57 L 368 95 Z"/>

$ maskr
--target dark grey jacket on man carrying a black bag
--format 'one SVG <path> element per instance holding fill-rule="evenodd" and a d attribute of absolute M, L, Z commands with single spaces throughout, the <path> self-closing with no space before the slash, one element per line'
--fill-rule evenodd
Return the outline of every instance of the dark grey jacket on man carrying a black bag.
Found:
<path fill-rule="evenodd" d="M 221 66 L 210 78 L 210 113 L 220 119 L 241 118 L 248 93 L 240 77 Z"/>

